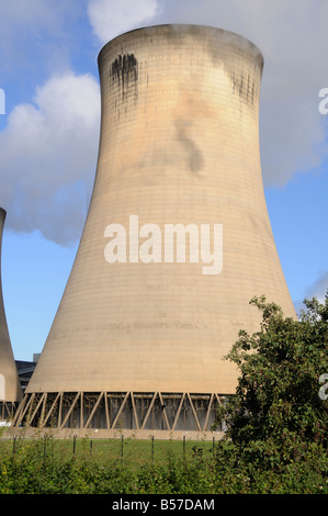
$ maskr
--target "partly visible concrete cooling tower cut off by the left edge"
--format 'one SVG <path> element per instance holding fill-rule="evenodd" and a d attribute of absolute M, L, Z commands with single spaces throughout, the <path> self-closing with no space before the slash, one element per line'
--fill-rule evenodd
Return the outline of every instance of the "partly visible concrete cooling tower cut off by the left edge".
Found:
<path fill-rule="evenodd" d="M 14 415 L 15 405 L 22 400 L 22 389 L 12 352 L 2 296 L 1 250 L 5 215 L 5 211 L 0 207 L 0 420 L 11 418 Z"/>

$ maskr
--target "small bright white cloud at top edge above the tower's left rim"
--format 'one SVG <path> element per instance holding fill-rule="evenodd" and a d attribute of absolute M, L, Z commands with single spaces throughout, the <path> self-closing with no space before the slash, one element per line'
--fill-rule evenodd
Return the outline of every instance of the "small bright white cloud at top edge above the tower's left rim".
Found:
<path fill-rule="evenodd" d="M 150 21 L 157 7 L 156 0 L 89 0 L 88 14 L 94 34 L 105 44 L 140 23 Z"/>

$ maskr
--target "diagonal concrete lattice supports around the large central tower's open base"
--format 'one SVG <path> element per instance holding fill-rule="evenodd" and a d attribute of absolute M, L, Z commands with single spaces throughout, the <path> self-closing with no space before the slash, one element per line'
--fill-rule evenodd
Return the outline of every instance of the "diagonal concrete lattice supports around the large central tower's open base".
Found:
<path fill-rule="evenodd" d="M 206 433 L 212 430 L 216 411 L 224 400 L 225 396 L 217 393 L 27 393 L 16 411 L 13 427 Z M 223 430 L 216 428 L 216 431 Z"/>

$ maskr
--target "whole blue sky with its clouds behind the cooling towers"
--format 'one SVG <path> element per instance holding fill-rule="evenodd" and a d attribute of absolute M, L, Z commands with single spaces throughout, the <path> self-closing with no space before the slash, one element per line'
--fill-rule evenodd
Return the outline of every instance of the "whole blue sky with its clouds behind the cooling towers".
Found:
<path fill-rule="evenodd" d="M 97 57 L 145 25 L 237 32 L 264 56 L 260 108 L 265 197 L 299 309 L 328 287 L 326 0 L 0 0 L 2 290 L 18 360 L 41 352 L 68 279 L 97 166 Z M 0 110 L 1 113 L 1 110 Z"/>

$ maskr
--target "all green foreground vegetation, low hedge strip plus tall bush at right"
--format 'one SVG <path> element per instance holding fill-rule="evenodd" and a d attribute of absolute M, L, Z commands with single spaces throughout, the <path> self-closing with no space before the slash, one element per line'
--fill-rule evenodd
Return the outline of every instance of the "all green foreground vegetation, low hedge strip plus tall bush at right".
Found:
<path fill-rule="evenodd" d="M 262 323 L 251 336 L 241 330 L 227 356 L 240 378 L 218 413 L 222 441 L 186 451 L 169 441 L 160 453 L 136 441 L 144 460 L 128 462 L 120 440 L 114 455 L 87 440 L 79 452 L 54 437 L 2 440 L 0 493 L 328 494 L 328 296 L 305 301 L 299 321 L 264 298 L 251 303 Z"/>

